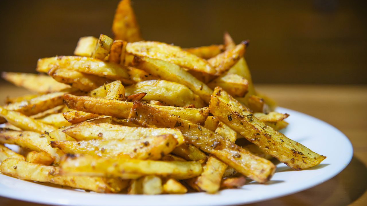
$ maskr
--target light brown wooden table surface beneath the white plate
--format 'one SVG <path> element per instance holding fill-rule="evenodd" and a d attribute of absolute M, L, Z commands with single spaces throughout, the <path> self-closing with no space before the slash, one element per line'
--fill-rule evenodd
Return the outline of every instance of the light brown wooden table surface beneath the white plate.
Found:
<path fill-rule="evenodd" d="M 257 85 L 259 92 L 279 106 L 312 115 L 341 130 L 353 144 L 352 162 L 333 179 L 316 187 L 251 206 L 364 206 L 367 205 L 367 86 Z M 0 85 L 0 102 L 23 89 Z M 22 194 L 19 194 L 22 195 Z M 0 206 L 40 206 L 0 197 Z"/>

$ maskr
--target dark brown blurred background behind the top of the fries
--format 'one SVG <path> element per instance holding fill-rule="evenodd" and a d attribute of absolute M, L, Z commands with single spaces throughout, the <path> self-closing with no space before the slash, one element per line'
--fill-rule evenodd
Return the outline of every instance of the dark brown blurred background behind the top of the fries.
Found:
<path fill-rule="evenodd" d="M 111 35 L 118 0 L 1 1 L 0 71 L 34 72 L 72 55 L 79 37 Z M 143 38 L 182 47 L 250 39 L 255 83 L 367 84 L 366 1 L 133 0 Z"/>

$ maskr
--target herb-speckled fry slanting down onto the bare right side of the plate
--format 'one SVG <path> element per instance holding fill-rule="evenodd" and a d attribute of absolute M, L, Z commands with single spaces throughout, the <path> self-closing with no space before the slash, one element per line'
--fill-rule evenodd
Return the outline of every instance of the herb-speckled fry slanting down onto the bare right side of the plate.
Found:
<path fill-rule="evenodd" d="M 295 170 L 318 165 L 326 158 L 259 121 L 248 108 L 220 87 L 214 90 L 210 112 L 248 141 Z"/>

